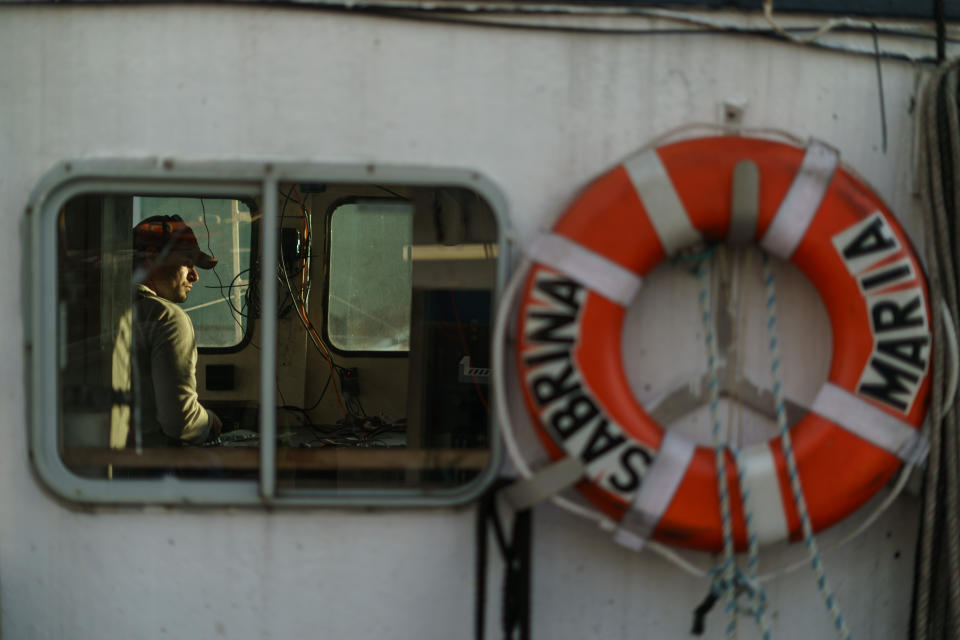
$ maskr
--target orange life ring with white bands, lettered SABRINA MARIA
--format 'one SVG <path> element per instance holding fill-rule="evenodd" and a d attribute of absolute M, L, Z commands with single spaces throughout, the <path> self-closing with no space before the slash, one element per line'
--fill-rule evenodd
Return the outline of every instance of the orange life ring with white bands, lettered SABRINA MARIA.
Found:
<path fill-rule="evenodd" d="M 731 204 L 732 185 L 738 166 L 751 165 L 758 197 L 745 220 Z M 519 293 L 517 371 L 538 439 L 552 459 L 580 460 L 577 488 L 586 499 L 660 542 L 704 550 L 722 544 L 714 452 L 665 431 L 638 403 L 621 329 L 646 274 L 684 248 L 733 235 L 798 267 L 829 317 L 828 381 L 790 431 L 814 530 L 860 507 L 901 460 L 925 454 L 927 285 L 880 197 L 816 141 L 803 149 L 716 136 L 637 152 L 590 184 L 533 244 Z M 779 438 L 744 454 L 759 537 L 797 539 Z M 734 488 L 729 451 L 726 465 Z M 743 548 L 743 507 L 730 493 Z"/>

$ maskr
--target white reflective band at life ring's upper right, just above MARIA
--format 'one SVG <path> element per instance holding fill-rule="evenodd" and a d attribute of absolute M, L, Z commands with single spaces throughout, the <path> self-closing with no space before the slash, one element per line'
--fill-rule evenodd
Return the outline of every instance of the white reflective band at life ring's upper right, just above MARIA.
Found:
<path fill-rule="evenodd" d="M 790 259 L 807 234 L 839 163 L 840 154 L 836 149 L 819 140 L 810 141 L 800 170 L 763 234 L 760 246 L 778 258 Z"/>

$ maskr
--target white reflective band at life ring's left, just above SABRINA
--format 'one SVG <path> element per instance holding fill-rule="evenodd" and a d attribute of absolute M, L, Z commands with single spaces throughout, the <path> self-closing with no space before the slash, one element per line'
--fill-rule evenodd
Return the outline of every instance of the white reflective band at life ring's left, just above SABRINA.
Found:
<path fill-rule="evenodd" d="M 603 297 L 627 306 L 643 280 L 613 260 L 555 233 L 542 233 L 526 249 L 534 260 L 573 278 Z"/>

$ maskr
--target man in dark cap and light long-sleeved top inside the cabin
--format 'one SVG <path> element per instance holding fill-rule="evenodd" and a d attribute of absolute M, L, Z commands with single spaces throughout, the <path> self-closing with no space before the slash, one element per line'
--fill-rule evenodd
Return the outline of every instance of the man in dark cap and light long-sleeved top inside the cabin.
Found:
<path fill-rule="evenodd" d="M 114 407 L 111 447 L 202 444 L 220 435 L 220 419 L 197 397 L 197 342 L 180 307 L 199 280 L 197 267 L 216 264 L 180 216 L 151 216 L 133 228 L 133 301 L 113 356 L 114 389 L 128 402 Z"/>

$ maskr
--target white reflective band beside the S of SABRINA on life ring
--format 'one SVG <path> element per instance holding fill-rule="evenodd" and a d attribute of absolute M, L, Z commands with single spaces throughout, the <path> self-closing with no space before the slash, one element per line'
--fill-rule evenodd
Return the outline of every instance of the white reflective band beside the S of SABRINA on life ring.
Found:
<path fill-rule="evenodd" d="M 660 450 L 613 536 L 617 543 L 635 551 L 643 548 L 673 501 L 695 450 L 684 437 L 672 431 L 664 434 Z"/>

